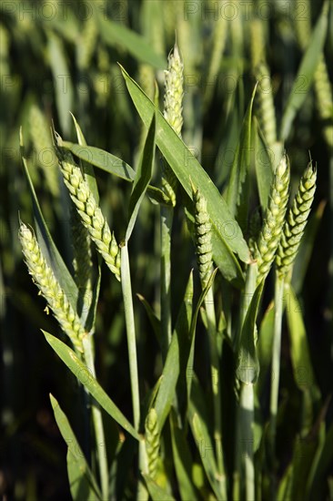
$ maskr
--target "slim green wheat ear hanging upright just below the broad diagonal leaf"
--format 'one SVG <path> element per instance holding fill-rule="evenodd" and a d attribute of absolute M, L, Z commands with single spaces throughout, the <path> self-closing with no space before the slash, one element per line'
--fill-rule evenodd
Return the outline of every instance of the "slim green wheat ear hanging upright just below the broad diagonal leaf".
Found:
<path fill-rule="evenodd" d="M 198 189 L 196 190 L 192 187 L 192 190 L 195 203 L 197 265 L 202 286 L 205 288 L 213 268 L 211 223 L 207 213 L 206 199 L 200 194 Z"/>

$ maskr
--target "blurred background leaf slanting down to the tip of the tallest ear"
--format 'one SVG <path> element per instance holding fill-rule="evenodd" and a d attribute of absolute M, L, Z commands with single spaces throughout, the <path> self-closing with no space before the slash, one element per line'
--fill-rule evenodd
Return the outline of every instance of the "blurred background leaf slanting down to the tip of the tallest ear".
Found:
<path fill-rule="evenodd" d="M 146 39 L 126 26 L 106 19 L 98 12 L 99 34 L 106 44 L 125 48 L 138 61 L 154 66 L 158 69 L 166 67 L 166 59 L 158 56 Z"/>

